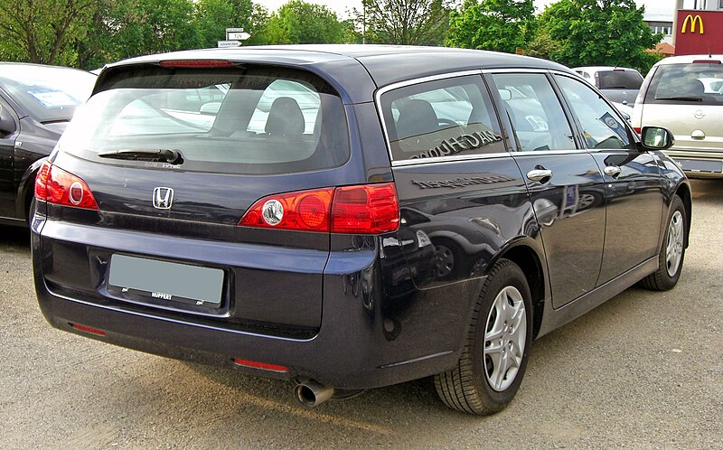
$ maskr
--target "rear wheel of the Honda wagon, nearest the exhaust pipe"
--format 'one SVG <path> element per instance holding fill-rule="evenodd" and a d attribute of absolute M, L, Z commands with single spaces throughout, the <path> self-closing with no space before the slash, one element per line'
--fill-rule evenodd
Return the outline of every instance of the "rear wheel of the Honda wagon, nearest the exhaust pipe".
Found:
<path fill-rule="evenodd" d="M 527 367 L 531 324 L 527 278 L 519 266 L 501 259 L 477 298 L 457 366 L 435 376 L 446 406 L 483 416 L 506 407 Z"/>

